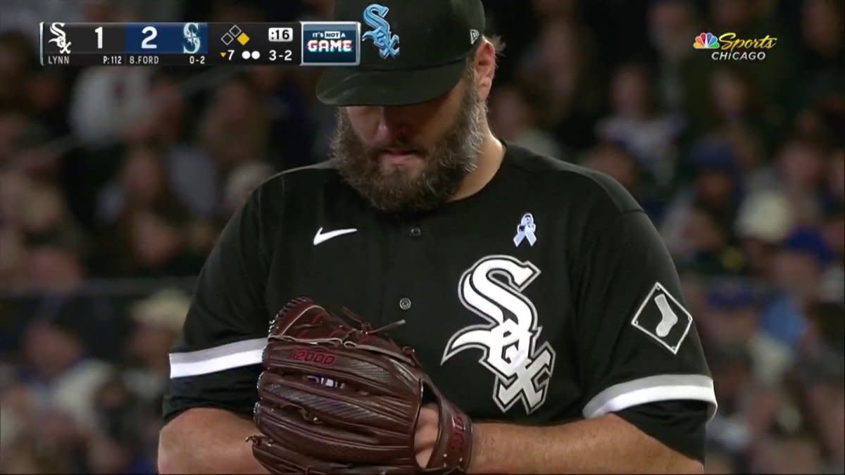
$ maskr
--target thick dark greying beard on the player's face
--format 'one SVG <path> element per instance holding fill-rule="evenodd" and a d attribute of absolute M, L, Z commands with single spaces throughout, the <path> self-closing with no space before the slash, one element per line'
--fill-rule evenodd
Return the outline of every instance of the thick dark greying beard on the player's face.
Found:
<path fill-rule="evenodd" d="M 330 150 L 341 177 L 378 210 L 419 213 L 443 204 L 475 170 L 481 154 L 487 106 L 478 100 L 474 83 L 469 81 L 457 117 L 430 150 L 406 139 L 396 139 L 390 144 L 364 145 L 352 129 L 346 112 L 339 109 Z M 379 155 L 391 147 L 415 150 L 426 161 L 422 172 L 410 177 L 400 167 L 383 170 Z"/>

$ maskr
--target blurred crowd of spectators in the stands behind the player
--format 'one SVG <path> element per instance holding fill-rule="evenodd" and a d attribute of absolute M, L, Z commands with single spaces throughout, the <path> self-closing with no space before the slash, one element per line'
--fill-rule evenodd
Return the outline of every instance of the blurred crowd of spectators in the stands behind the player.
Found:
<path fill-rule="evenodd" d="M 720 404 L 709 472 L 845 470 L 842 0 L 499 0 L 489 118 L 662 232 Z M 191 278 L 326 158 L 316 68 L 41 68 L 39 21 L 330 19 L 330 0 L 0 4 L 0 472 L 155 472 Z M 771 35 L 713 61 L 702 31 Z"/>

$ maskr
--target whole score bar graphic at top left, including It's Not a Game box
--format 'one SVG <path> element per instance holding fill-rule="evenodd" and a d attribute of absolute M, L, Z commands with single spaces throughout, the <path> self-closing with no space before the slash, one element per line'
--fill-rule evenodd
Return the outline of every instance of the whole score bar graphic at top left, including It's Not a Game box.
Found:
<path fill-rule="evenodd" d="M 42 66 L 357 66 L 361 24 L 41 23 Z"/>

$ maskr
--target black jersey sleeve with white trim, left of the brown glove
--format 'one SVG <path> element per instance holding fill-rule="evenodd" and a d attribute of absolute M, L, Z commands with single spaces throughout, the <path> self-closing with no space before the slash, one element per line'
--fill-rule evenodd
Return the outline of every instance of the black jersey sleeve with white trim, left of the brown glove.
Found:
<path fill-rule="evenodd" d="M 251 415 L 269 325 L 268 259 L 258 194 L 232 216 L 200 271 L 182 334 L 170 354 L 166 421 L 192 407 Z"/>

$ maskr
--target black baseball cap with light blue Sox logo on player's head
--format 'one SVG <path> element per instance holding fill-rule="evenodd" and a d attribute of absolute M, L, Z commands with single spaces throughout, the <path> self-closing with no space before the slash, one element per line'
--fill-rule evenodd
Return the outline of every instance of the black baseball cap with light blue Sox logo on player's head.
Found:
<path fill-rule="evenodd" d="M 406 106 L 458 84 L 484 34 L 481 0 L 337 0 L 335 21 L 361 23 L 361 63 L 326 68 L 330 106 Z"/>

